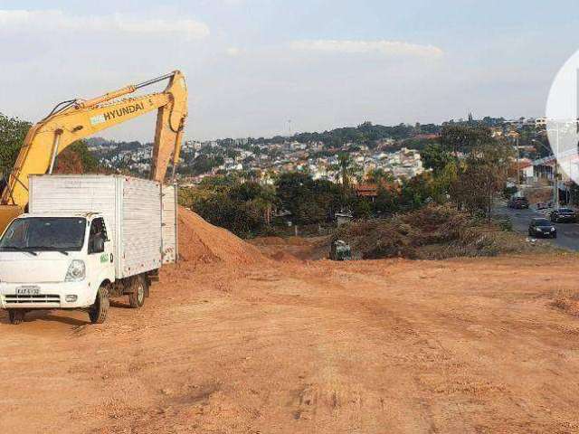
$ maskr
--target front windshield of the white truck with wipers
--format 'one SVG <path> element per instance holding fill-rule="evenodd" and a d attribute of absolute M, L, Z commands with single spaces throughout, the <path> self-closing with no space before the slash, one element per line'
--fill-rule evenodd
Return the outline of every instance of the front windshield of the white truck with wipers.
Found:
<path fill-rule="evenodd" d="M 0 240 L 0 251 L 81 250 L 86 219 L 78 217 L 30 217 L 16 219 Z"/>

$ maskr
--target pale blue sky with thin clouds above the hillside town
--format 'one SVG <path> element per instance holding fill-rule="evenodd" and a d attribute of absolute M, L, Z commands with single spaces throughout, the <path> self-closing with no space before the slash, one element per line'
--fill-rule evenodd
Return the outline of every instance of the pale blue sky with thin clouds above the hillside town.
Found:
<path fill-rule="evenodd" d="M 162 5 L 161 5 L 162 3 Z M 574 1 L 2 1 L 0 112 L 185 72 L 188 138 L 541 116 Z M 153 118 L 106 136 L 147 140 Z"/>

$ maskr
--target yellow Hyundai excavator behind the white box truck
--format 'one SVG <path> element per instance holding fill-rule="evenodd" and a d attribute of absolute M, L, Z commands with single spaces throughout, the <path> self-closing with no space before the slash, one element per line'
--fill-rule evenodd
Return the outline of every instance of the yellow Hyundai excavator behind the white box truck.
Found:
<path fill-rule="evenodd" d="M 122 98 L 146 86 L 168 80 L 166 89 L 135 98 Z M 187 88 L 181 71 L 129 85 L 93 99 L 71 99 L 30 128 L 6 180 L 0 198 L 0 233 L 28 204 L 28 176 L 52 173 L 56 157 L 76 140 L 157 109 L 157 128 L 151 162 L 151 179 L 163 183 L 169 161 L 173 177 L 181 152 L 187 117 Z"/>

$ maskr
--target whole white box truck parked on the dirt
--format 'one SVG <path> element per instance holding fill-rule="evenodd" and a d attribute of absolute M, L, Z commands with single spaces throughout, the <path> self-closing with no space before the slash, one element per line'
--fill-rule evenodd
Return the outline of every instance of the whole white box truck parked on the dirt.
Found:
<path fill-rule="evenodd" d="M 124 175 L 32 175 L 29 212 L 0 239 L 0 307 L 83 309 L 100 324 L 109 297 L 142 307 L 177 252 L 176 187 Z"/>

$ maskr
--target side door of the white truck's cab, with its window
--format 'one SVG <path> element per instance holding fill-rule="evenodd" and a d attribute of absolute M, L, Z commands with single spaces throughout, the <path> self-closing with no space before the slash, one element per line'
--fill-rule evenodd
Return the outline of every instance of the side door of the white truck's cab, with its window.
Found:
<path fill-rule="evenodd" d="M 112 242 L 109 240 L 107 226 L 102 217 L 97 217 L 90 223 L 87 264 L 87 278 L 94 282 L 94 285 L 100 285 L 105 278 L 113 280 L 114 258 L 112 255 Z"/>

